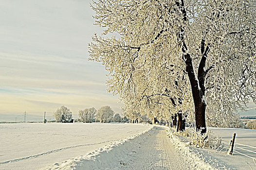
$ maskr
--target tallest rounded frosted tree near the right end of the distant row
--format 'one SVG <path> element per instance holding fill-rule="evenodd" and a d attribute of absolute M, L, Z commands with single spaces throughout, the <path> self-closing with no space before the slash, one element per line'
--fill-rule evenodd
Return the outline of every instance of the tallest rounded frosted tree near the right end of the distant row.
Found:
<path fill-rule="evenodd" d="M 97 110 L 96 119 L 98 119 L 101 123 L 105 123 L 109 118 L 113 118 L 113 115 L 114 111 L 110 108 L 110 106 L 103 106 Z"/>

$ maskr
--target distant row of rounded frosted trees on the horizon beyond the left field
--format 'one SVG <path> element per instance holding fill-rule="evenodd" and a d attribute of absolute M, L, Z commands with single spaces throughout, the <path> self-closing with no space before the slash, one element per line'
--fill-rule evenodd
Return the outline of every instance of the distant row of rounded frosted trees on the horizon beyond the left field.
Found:
<path fill-rule="evenodd" d="M 80 121 L 84 123 L 91 123 L 95 121 L 99 121 L 102 123 L 110 122 L 110 121 L 121 121 L 121 116 L 119 114 L 114 115 L 114 111 L 110 108 L 110 106 L 103 106 L 98 111 L 94 108 L 86 108 L 84 110 L 78 111 L 78 116 Z M 72 122 L 72 112 L 66 106 L 61 106 L 54 113 L 54 118 L 56 122 Z"/>

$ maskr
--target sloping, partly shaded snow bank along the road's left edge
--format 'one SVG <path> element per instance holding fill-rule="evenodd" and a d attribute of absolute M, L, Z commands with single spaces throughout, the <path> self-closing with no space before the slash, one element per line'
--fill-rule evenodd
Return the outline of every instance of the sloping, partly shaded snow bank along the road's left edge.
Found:
<path fill-rule="evenodd" d="M 119 170 L 120 167 L 126 164 L 124 159 L 135 153 L 135 151 L 132 151 L 133 147 L 130 145 L 125 147 L 120 146 L 131 141 L 135 137 L 145 134 L 152 128 L 153 126 L 136 135 L 111 142 L 110 144 L 91 153 L 87 153 L 84 156 L 72 158 L 61 163 L 55 163 L 53 166 L 47 167 L 43 170 Z"/>

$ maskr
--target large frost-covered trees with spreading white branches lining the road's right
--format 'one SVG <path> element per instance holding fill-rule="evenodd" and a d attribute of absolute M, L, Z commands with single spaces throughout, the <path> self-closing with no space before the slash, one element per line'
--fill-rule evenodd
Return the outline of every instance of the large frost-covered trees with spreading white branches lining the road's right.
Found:
<path fill-rule="evenodd" d="M 127 114 L 206 132 L 256 102 L 255 0 L 99 0 L 90 60 L 101 62 Z M 207 101 L 207 102 L 206 102 Z"/>

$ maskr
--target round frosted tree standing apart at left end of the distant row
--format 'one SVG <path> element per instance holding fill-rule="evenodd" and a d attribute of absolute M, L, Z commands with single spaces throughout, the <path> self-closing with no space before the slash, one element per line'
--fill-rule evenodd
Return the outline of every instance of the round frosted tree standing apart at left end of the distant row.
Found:
<path fill-rule="evenodd" d="M 54 118 L 56 122 L 71 122 L 72 121 L 72 112 L 66 106 L 61 106 L 54 112 Z"/>

